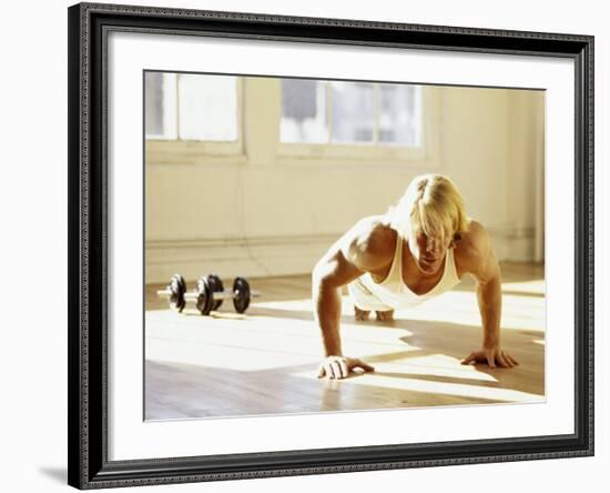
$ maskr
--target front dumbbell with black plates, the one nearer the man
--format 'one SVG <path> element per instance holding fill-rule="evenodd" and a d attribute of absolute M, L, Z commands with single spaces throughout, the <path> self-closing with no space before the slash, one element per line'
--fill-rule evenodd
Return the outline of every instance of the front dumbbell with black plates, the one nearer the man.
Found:
<path fill-rule="evenodd" d="M 235 311 L 244 313 L 250 306 L 252 298 L 260 295 L 260 292 L 250 289 L 250 283 L 245 278 L 236 278 L 233 282 L 233 290 L 225 290 L 220 278 L 211 274 L 200 278 L 195 291 L 184 293 L 184 301 L 194 302 L 202 315 L 209 315 L 224 300 L 233 299 Z"/>

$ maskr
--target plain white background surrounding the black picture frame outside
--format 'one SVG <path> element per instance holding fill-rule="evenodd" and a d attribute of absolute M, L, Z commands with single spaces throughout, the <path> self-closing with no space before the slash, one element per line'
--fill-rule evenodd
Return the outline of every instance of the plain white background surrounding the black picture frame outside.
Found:
<path fill-rule="evenodd" d="M 2 490 L 67 492 L 67 174 L 65 174 L 65 1 L 9 2 L 0 31 L 2 46 L 2 283 L 0 312 L 0 461 Z M 140 4 L 169 1 L 132 0 Z M 323 0 L 181 0 L 173 6 L 252 10 L 302 16 L 376 20 L 596 36 L 597 276 L 596 354 L 597 453 L 594 457 L 471 466 L 380 471 L 325 476 L 279 477 L 128 489 L 133 492 L 370 492 L 384 490 L 495 493 L 602 491 L 610 465 L 608 415 L 610 353 L 604 300 L 610 262 L 607 221 L 610 188 L 606 165 L 609 99 L 610 18 L 602 2 L 514 0 L 495 4 L 464 0 L 401 4 Z M 501 426 L 501 423 L 498 423 Z"/>

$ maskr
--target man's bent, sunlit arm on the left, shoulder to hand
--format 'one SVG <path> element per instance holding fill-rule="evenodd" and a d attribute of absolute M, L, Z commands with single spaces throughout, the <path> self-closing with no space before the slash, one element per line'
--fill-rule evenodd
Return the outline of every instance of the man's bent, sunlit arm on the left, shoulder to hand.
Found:
<path fill-rule="evenodd" d="M 369 221 L 360 221 L 317 262 L 312 274 L 314 318 L 321 329 L 325 360 L 318 376 L 344 379 L 354 368 L 373 371 L 360 360 L 344 356 L 340 343 L 340 288 L 387 262 L 383 252 L 384 232 Z"/>

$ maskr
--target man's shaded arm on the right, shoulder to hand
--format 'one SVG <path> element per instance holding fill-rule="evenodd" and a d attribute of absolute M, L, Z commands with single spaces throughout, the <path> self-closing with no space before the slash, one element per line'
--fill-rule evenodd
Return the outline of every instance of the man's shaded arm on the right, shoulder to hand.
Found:
<path fill-rule="evenodd" d="M 500 318 L 502 308 L 501 274 L 498 259 L 491 248 L 489 234 L 479 223 L 474 222 L 469 233 L 470 273 L 477 280 L 477 300 L 482 322 L 482 345 L 462 363 L 487 362 L 489 368 L 512 368 L 518 363 L 500 345 Z"/>

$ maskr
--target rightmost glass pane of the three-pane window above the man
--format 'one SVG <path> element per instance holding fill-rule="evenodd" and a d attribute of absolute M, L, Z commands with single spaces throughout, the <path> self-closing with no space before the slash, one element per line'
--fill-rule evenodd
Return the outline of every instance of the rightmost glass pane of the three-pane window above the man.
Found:
<path fill-rule="evenodd" d="M 379 142 L 420 145 L 420 98 L 417 85 L 380 85 Z"/>

